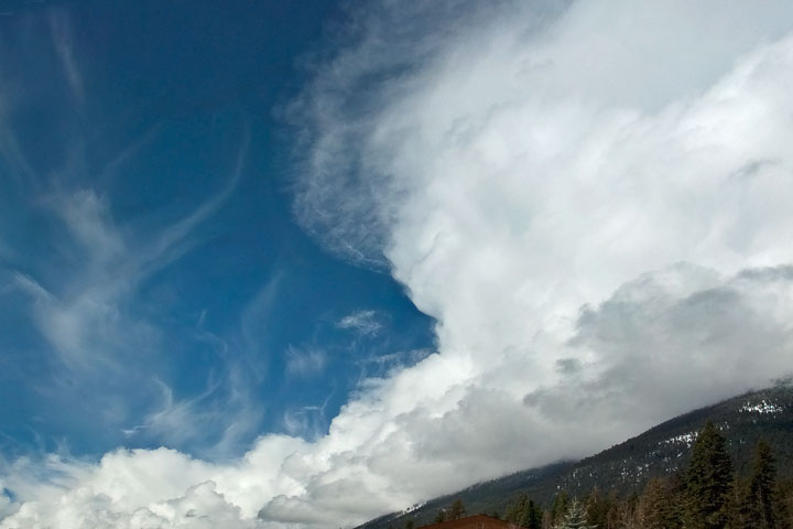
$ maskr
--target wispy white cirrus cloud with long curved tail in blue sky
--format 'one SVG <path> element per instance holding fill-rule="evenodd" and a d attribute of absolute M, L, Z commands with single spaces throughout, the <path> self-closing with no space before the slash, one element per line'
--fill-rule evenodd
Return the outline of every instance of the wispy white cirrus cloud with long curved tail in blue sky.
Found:
<path fill-rule="evenodd" d="M 35 387 L 42 397 L 76 407 L 73 413 L 89 409 L 106 428 L 129 435 L 171 446 L 197 443 L 197 453 L 204 455 L 239 454 L 240 440 L 250 442 L 261 407 L 252 401 L 243 361 L 237 358 L 226 361 L 221 373 L 208 375 L 217 380 L 207 382 L 207 393 L 169 397 L 159 406 L 162 385 L 152 373 L 164 358 L 162 332 L 152 317 L 155 311 L 140 298 L 141 284 L 194 247 L 195 228 L 233 191 L 246 145 L 247 139 L 236 172 L 220 192 L 153 237 L 135 226 L 119 226 L 109 201 L 90 188 L 68 192 L 58 186 L 42 193 L 36 213 L 65 228 L 53 242 L 56 255 L 30 273 L 12 269 L 3 287 L 26 294 L 23 310 L 43 338 L 46 367 L 56 374 Z M 220 347 L 218 355 L 227 359 L 225 344 L 210 333 L 199 328 L 196 339 Z M 77 391 L 84 395 L 76 397 Z M 141 413 L 146 414 L 142 420 Z"/>

